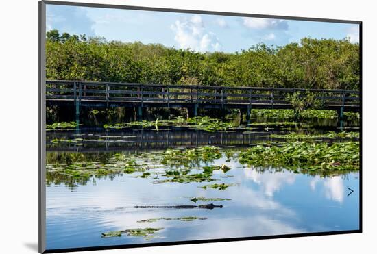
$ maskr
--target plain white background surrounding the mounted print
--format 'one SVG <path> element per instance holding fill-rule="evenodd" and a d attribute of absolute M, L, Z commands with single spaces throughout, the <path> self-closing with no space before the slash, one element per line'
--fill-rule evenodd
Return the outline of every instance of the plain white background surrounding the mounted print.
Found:
<path fill-rule="evenodd" d="M 78 1 L 78 0 L 77 0 Z M 90 0 L 86 0 L 90 1 Z M 376 10 L 374 1 L 102 0 L 163 8 L 337 18 L 363 21 L 363 233 L 222 242 L 90 253 L 376 253 Z M 0 15 L 0 250 L 36 253 L 38 246 L 38 1 L 8 0 Z M 12 94 L 10 96 L 8 94 Z M 374 95 L 376 94 L 376 95 Z M 232 229 L 230 229 L 232 230 Z"/>

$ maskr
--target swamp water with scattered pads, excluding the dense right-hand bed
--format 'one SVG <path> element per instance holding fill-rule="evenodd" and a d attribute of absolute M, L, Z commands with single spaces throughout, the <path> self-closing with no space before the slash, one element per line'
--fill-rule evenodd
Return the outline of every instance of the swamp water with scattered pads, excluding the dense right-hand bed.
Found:
<path fill-rule="evenodd" d="M 253 144 L 276 142 L 270 134 L 290 131 L 48 131 L 47 249 L 359 229 L 357 171 L 324 177 L 248 166 L 235 156 Z M 219 153 L 206 157 L 206 151 L 199 150 L 193 161 L 173 160 L 181 153 L 177 151 L 203 146 L 217 147 Z M 175 152 L 166 155 L 167 149 Z M 69 168 L 71 175 L 59 173 L 72 164 L 77 168 Z M 95 173 L 75 175 L 74 170 L 85 167 Z M 104 173 L 104 168 L 113 171 Z M 187 177 L 204 170 L 210 170 L 210 176 Z M 210 186 L 223 183 L 223 188 Z M 223 207 L 134 208 L 208 203 Z M 144 235 L 127 231 L 146 228 L 155 230 Z M 120 232 L 104 237 L 114 231 Z"/>

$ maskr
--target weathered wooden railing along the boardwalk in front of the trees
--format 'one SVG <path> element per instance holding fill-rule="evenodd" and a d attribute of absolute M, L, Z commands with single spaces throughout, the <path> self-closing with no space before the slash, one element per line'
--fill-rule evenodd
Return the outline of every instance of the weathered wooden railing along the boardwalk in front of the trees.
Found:
<path fill-rule="evenodd" d="M 46 81 L 47 101 L 73 101 L 75 105 L 100 102 L 104 105 L 131 103 L 141 107 L 157 106 L 289 108 L 288 94 L 307 92 L 315 94 L 321 107 L 358 110 L 359 91 L 356 90 L 305 90 L 299 88 L 259 88 L 228 86 L 190 86 L 111 83 L 93 81 Z"/>

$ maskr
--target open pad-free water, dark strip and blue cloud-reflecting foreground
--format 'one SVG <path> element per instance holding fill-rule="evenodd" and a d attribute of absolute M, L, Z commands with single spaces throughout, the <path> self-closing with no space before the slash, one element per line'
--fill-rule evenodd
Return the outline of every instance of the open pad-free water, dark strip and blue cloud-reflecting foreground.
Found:
<path fill-rule="evenodd" d="M 271 131 L 270 131 L 271 132 Z M 284 131 L 280 131 L 282 133 Z M 82 135 L 84 134 L 84 135 Z M 252 133 L 206 133 L 204 131 L 127 130 L 106 133 L 101 130 L 49 132 L 49 153 L 81 151 L 91 153 L 132 153 L 166 147 L 218 146 L 246 147 L 253 142 L 269 140 L 267 131 Z M 81 137 L 82 145 L 50 144 L 53 138 Z M 108 142 L 97 142 L 99 137 Z M 141 138 L 142 136 L 142 138 Z M 106 138 L 102 138 L 105 139 Z M 168 140 L 169 139 L 169 140 Z M 150 142 L 147 142 L 147 141 Z M 144 141 L 144 142 L 143 142 Z M 236 183 L 226 190 L 198 188 L 208 183 L 161 183 L 155 179 L 117 175 L 95 179 L 75 187 L 47 186 L 47 249 L 143 244 L 247 236 L 271 236 L 289 233 L 343 231 L 358 229 L 358 173 L 335 177 L 313 177 L 280 172 L 269 168 L 264 172 L 226 158 L 211 165 L 226 164 L 231 170 L 215 170 L 215 178 L 223 183 Z M 151 172 L 165 168 L 156 166 Z M 195 171 L 192 171 L 195 173 Z M 216 183 L 216 182 L 212 182 Z M 350 190 L 354 190 L 350 194 Z M 135 209 L 134 205 L 195 205 L 190 197 L 204 196 L 230 201 L 198 201 L 215 203 L 223 208 L 208 209 Z M 138 223 L 149 218 L 206 217 L 206 220 L 158 220 Z M 101 233 L 133 228 L 162 227 L 155 238 L 122 235 L 102 238 Z"/>

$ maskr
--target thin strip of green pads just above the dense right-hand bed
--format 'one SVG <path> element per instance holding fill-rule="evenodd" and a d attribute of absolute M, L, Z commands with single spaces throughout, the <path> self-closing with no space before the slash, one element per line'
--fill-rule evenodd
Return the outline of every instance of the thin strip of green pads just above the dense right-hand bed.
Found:
<path fill-rule="evenodd" d="M 271 134 L 271 138 L 284 138 L 287 140 L 315 140 L 319 138 L 359 138 L 360 134 L 358 132 L 333 132 L 330 131 L 326 134 L 297 134 L 297 133 L 291 133 L 291 134 Z"/>

